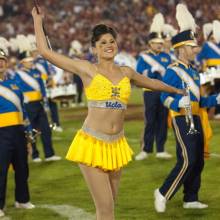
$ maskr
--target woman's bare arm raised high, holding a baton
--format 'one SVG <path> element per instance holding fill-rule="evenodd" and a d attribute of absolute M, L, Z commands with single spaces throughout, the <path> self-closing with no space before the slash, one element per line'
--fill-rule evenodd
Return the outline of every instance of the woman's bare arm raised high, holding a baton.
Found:
<path fill-rule="evenodd" d="M 58 66 L 68 72 L 78 74 L 79 76 L 91 73 L 91 69 L 94 67 L 90 62 L 86 60 L 74 60 L 67 56 L 56 53 L 48 48 L 42 26 L 43 14 L 40 8 L 39 12 L 40 13 L 38 14 L 35 7 L 32 10 L 32 16 L 34 19 L 34 30 L 39 53 L 55 66 Z"/>

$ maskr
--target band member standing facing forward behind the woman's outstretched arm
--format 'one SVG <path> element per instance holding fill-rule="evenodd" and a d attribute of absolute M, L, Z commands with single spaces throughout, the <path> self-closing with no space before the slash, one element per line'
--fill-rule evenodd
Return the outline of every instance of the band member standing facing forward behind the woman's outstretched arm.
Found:
<path fill-rule="evenodd" d="M 137 72 L 152 79 L 162 80 L 166 67 L 171 63 L 169 54 L 163 52 L 164 40 L 162 38 L 162 27 L 164 18 L 161 13 L 155 15 L 150 27 L 148 44 L 150 49 L 140 54 L 137 61 Z M 144 146 L 142 151 L 135 157 L 143 160 L 153 152 L 154 140 L 157 147 L 157 158 L 171 158 L 164 151 L 167 138 L 167 116 L 168 110 L 160 101 L 160 92 L 144 89 Z"/>

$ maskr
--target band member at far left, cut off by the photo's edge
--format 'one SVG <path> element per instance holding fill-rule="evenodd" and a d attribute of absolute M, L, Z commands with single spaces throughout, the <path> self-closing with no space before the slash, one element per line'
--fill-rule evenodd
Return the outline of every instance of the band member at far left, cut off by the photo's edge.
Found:
<path fill-rule="evenodd" d="M 0 40 L 0 217 L 6 199 L 6 184 L 9 164 L 15 171 L 15 207 L 33 209 L 28 189 L 28 162 L 26 130 L 30 134 L 31 127 L 27 124 L 27 114 L 24 111 L 23 95 L 12 81 L 4 80 L 7 70 L 7 48 Z"/>

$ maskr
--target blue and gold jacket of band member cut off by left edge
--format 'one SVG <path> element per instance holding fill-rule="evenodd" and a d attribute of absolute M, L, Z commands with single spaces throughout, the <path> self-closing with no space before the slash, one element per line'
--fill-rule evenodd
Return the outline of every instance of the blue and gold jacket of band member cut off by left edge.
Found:
<path fill-rule="evenodd" d="M 14 125 L 25 125 L 27 131 L 32 130 L 19 86 L 10 79 L 0 80 L 0 128 Z"/>

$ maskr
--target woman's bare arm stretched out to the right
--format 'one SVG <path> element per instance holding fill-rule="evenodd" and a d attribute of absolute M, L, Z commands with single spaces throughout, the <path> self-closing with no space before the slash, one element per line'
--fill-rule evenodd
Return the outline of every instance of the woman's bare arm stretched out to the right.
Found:
<path fill-rule="evenodd" d="M 160 80 L 151 79 L 146 76 L 140 75 L 129 67 L 125 67 L 125 68 L 126 68 L 125 71 L 129 75 L 132 82 L 138 87 L 151 89 L 154 91 L 184 94 L 184 91 L 181 89 L 177 89 L 175 87 L 169 86 L 161 82 Z"/>

